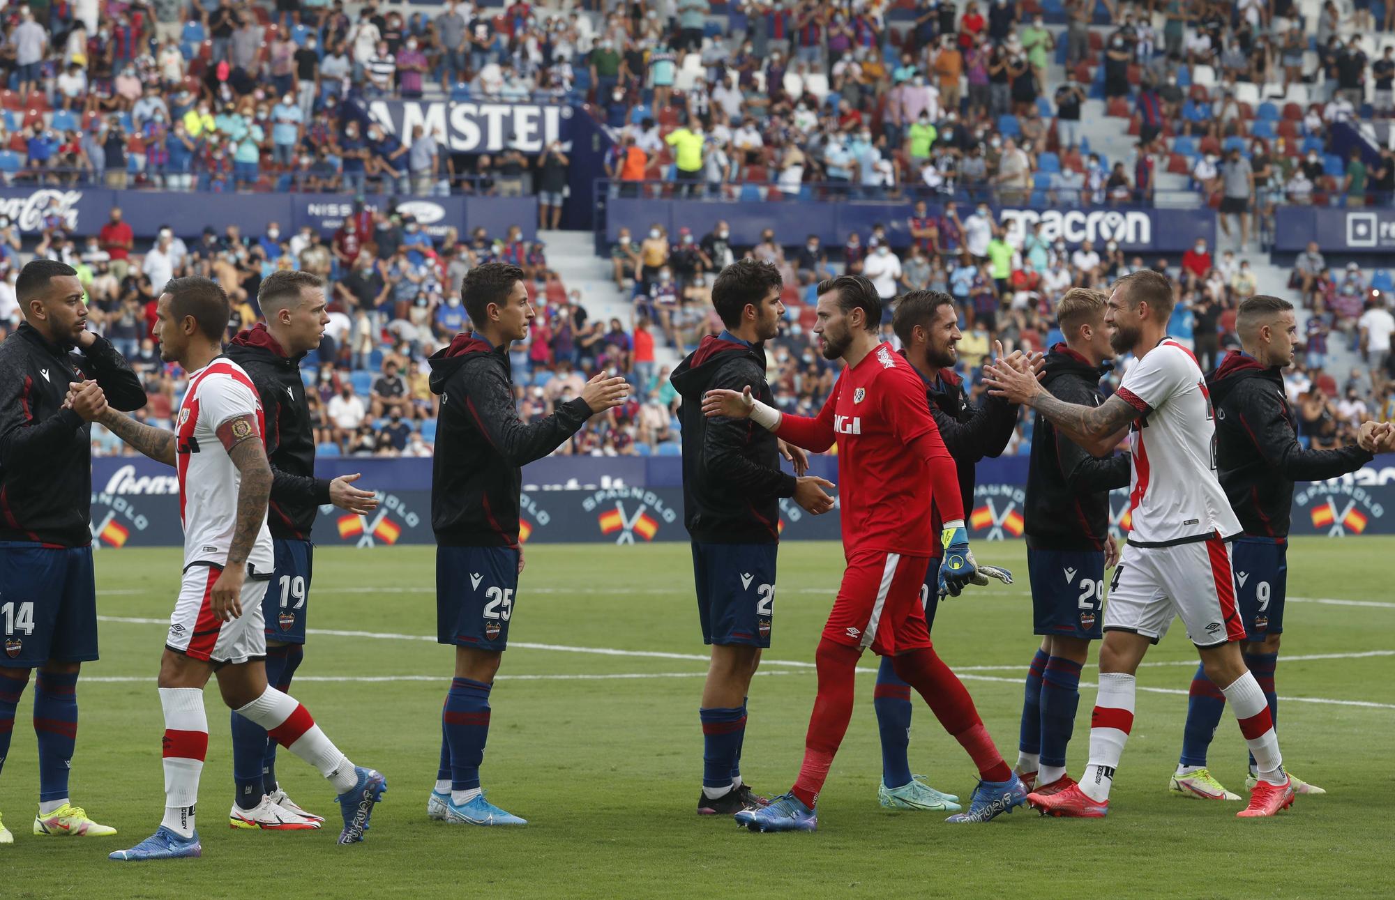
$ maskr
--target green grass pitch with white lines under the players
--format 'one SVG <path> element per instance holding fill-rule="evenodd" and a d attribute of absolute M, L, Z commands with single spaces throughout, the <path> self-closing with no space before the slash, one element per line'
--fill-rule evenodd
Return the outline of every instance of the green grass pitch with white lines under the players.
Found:
<path fill-rule="evenodd" d="M 787 790 L 799 765 L 815 691 L 809 663 L 841 571 L 838 550 L 830 543 L 781 548 L 774 646 L 752 685 L 742 766 L 762 791 Z M 515 646 L 494 690 L 484 761 L 491 800 L 530 819 L 526 829 L 425 818 L 452 672 L 451 651 L 428 637 L 435 634 L 432 548 L 321 549 L 310 626 L 333 634 L 311 634 L 292 690 L 354 761 L 388 776 L 368 840 L 335 844 L 332 790 L 285 752 L 282 783 L 333 828 L 229 830 L 227 713 L 209 690 L 212 736 L 198 807 L 204 858 L 165 864 L 116 864 L 106 854 L 151 833 L 163 805 L 153 676 L 180 556 L 173 549 L 102 552 L 98 591 L 107 619 L 102 660 L 85 666 L 78 687 L 73 798 L 120 835 L 29 833 L 38 791 L 31 685 L 0 779 L 0 812 L 15 832 L 15 844 L 0 848 L 0 894 L 1392 896 L 1392 552 L 1395 539 L 1362 538 L 1299 539 L 1289 553 L 1289 593 L 1304 599 L 1288 607 L 1279 694 L 1314 702 L 1283 702 L 1279 734 L 1289 768 L 1329 794 L 1300 797 L 1276 819 L 1246 822 L 1235 818 L 1237 804 L 1166 793 L 1189 663 L 1196 662 L 1179 624 L 1138 673 L 1138 715 L 1105 821 L 1043 819 L 1018 809 L 988 825 L 951 826 L 937 815 L 879 808 L 876 663 L 868 656 L 852 724 L 820 797 L 820 830 L 752 835 L 693 814 L 704 665 L 685 545 L 529 548 Z M 1021 676 L 1035 644 L 1024 549 L 981 543 L 978 553 L 1013 567 L 1018 582 L 950 600 L 935 638 L 1011 762 Z M 607 652 L 591 652 L 601 648 Z M 1091 685 L 1094 676 L 1087 667 Z M 1085 762 L 1094 697 L 1094 687 L 1083 688 L 1074 775 Z M 965 754 L 919 704 L 911 758 L 912 769 L 942 790 L 967 796 L 974 787 Z M 1243 793 L 1244 745 L 1229 715 L 1211 763 Z"/>

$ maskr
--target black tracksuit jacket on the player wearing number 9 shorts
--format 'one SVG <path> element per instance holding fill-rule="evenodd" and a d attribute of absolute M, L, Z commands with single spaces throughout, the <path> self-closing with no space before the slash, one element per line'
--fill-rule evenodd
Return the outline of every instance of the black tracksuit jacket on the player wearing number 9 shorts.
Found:
<path fill-rule="evenodd" d="M 1374 457 L 1360 447 L 1304 450 L 1278 368 L 1232 351 L 1207 376 L 1216 410 L 1216 475 L 1246 535 L 1288 538 L 1293 482 L 1355 472 Z"/>

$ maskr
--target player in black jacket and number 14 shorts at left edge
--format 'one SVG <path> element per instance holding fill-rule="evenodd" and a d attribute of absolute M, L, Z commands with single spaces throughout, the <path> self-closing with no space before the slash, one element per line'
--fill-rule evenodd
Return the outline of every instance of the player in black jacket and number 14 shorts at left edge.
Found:
<path fill-rule="evenodd" d="M 77 272 L 35 259 L 14 290 L 24 322 L 0 344 L 0 766 L 20 695 L 38 669 L 33 833 L 114 835 L 68 801 L 78 670 L 98 658 L 89 422 L 107 403 L 140 410 L 145 389 L 121 354 L 86 330 Z M 95 380 L 63 408 L 68 385 L 84 379 Z M 10 843 L 0 822 L 0 844 Z"/>

